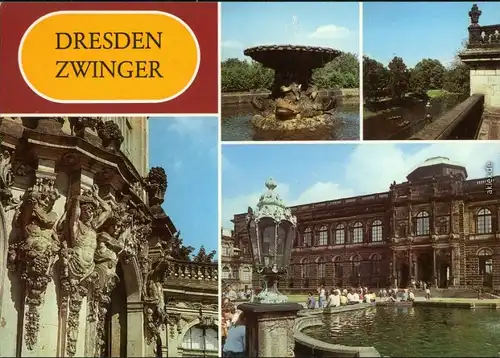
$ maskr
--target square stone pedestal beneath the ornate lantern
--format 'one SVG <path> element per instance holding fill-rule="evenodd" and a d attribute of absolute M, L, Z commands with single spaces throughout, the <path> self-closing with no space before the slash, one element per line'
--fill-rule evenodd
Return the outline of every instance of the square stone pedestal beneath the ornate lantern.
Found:
<path fill-rule="evenodd" d="M 298 303 L 243 303 L 246 357 L 295 357 L 294 325 Z"/>

